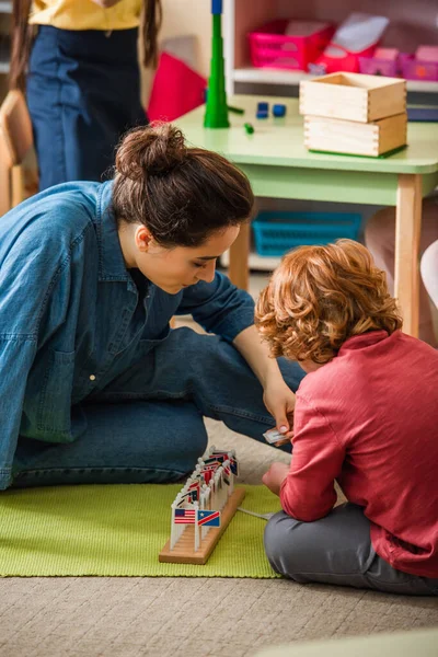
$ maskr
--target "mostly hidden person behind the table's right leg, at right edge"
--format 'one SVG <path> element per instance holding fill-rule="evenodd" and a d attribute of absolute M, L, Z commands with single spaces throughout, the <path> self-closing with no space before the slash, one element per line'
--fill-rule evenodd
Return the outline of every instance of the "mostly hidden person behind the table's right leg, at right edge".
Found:
<path fill-rule="evenodd" d="M 430 196 L 423 201 L 422 235 L 419 242 L 420 253 L 438 240 L 438 196 Z M 368 221 L 365 229 L 365 243 L 376 265 L 387 274 L 388 287 L 391 295 L 394 293 L 394 263 L 395 263 L 395 210 L 394 208 L 383 208 L 379 210 Z M 430 310 L 430 289 L 438 286 L 437 268 L 438 262 L 433 262 L 433 254 L 437 251 L 430 251 L 427 256 L 427 265 L 422 266 L 422 278 L 419 289 L 419 327 L 418 337 L 433 347 L 438 347 L 438 338 L 434 330 L 433 314 Z M 426 261 L 425 261 L 426 262 Z M 426 284 L 425 275 L 429 280 Z M 433 274 L 435 272 L 435 274 Z M 426 287 L 425 287 L 426 286 Z M 427 288 L 427 289 L 426 289 Z M 437 293 L 435 295 L 435 306 L 438 306 Z"/>

